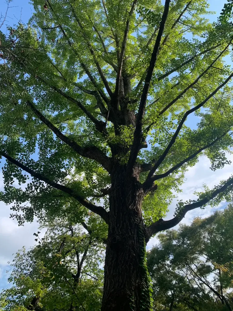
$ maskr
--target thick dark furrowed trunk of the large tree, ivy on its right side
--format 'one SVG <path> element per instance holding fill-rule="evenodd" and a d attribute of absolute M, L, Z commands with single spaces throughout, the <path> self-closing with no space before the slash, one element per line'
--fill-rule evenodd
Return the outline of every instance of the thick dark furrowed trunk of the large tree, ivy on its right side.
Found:
<path fill-rule="evenodd" d="M 152 310 L 138 176 L 122 167 L 112 174 L 102 311 Z"/>

